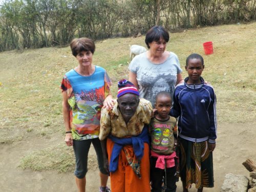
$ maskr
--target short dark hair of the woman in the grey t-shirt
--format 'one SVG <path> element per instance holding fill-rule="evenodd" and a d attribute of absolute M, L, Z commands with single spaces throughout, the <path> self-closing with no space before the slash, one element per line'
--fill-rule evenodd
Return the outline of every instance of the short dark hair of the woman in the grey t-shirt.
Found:
<path fill-rule="evenodd" d="M 147 48 L 150 49 L 149 44 L 153 41 L 158 41 L 161 37 L 165 40 L 165 42 L 169 41 L 169 33 L 162 26 L 154 26 L 148 30 L 145 37 Z"/>

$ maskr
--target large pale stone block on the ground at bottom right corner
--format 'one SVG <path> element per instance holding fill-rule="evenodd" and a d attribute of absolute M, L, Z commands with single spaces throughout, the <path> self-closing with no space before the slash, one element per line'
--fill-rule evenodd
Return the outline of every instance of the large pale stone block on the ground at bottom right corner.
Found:
<path fill-rule="evenodd" d="M 229 173 L 225 176 L 221 192 L 247 192 L 248 185 L 249 179 L 247 177 Z"/>

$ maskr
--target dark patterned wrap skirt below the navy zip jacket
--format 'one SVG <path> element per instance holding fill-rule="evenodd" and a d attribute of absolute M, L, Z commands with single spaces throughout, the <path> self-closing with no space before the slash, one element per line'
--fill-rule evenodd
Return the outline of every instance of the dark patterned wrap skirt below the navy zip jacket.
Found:
<path fill-rule="evenodd" d="M 186 188 L 214 187 L 212 152 L 208 141 L 195 143 L 179 137 L 179 171 Z"/>

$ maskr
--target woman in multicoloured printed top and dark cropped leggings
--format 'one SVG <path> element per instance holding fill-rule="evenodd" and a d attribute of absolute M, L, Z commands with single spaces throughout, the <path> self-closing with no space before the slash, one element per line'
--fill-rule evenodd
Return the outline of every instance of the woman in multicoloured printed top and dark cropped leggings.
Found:
<path fill-rule="evenodd" d="M 75 38 L 70 44 L 78 66 L 62 79 L 62 108 L 66 128 L 65 141 L 74 148 L 76 157 L 75 179 L 79 191 L 86 189 L 88 152 L 93 143 L 100 170 L 99 191 L 106 187 L 108 172 L 103 168 L 102 149 L 99 141 L 100 111 L 113 105 L 110 94 L 111 80 L 105 69 L 92 64 L 95 44 L 89 38 Z"/>

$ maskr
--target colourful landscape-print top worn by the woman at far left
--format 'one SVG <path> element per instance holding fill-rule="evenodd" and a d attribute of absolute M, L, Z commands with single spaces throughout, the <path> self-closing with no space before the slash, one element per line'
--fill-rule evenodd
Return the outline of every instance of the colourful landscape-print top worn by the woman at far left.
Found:
<path fill-rule="evenodd" d="M 93 83 L 69 71 L 63 78 L 61 89 L 67 91 L 70 110 L 70 126 L 76 140 L 97 138 L 99 135 L 100 111 L 111 81 L 103 68 L 97 67 Z"/>

